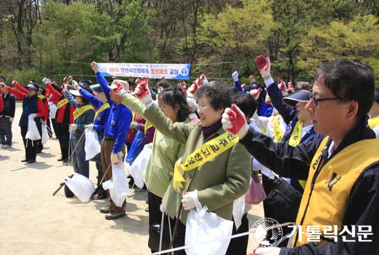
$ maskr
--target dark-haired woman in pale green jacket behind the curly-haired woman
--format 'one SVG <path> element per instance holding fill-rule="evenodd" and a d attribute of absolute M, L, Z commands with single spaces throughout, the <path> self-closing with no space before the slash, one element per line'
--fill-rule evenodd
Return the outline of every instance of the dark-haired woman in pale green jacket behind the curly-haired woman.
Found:
<path fill-rule="evenodd" d="M 136 99 L 134 107 L 130 108 L 136 114 L 142 114 L 140 101 Z M 181 90 L 165 88 L 158 94 L 158 106 L 163 114 L 172 121 L 188 122 L 189 108 Z M 162 198 L 174 173 L 175 162 L 183 156 L 185 145 L 168 138 L 158 130 L 154 133 L 152 156 L 147 162 L 143 179 L 147 187 L 149 203 L 149 225 L 161 223 Z M 152 253 L 158 252 L 152 249 Z"/>

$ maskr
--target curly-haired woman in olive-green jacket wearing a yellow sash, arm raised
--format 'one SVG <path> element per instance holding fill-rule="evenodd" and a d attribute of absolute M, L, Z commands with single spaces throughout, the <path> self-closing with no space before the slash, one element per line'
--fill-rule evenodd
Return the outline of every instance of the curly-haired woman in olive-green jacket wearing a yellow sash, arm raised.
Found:
<path fill-rule="evenodd" d="M 208 212 L 232 220 L 234 200 L 249 187 L 252 159 L 238 139 L 222 128 L 221 115 L 232 103 L 230 90 L 225 86 L 210 83 L 198 89 L 198 123 L 173 123 L 152 102 L 147 86 L 147 79 L 143 79 L 136 89 L 136 97 L 145 104 L 143 118 L 165 136 L 185 144 L 183 157 L 177 161 L 173 180 L 163 197 L 165 211 L 171 218 L 181 220 L 177 234 L 181 243 L 175 241 L 176 246 L 184 245 L 187 214 L 196 207 L 195 201 L 206 205 Z M 133 100 L 125 94 L 123 103 L 130 107 Z"/>

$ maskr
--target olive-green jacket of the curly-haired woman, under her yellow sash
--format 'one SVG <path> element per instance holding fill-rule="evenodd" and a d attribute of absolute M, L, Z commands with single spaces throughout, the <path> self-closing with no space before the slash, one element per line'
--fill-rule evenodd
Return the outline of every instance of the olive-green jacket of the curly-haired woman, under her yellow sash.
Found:
<path fill-rule="evenodd" d="M 204 141 L 203 132 L 198 123 L 172 123 L 155 104 L 145 110 L 143 118 L 150 121 L 156 130 L 165 136 L 179 143 L 185 143 L 181 163 L 203 143 L 225 132 L 221 128 Z M 183 174 L 186 179 L 183 185 L 184 190 L 189 192 L 198 190 L 198 200 L 201 205 L 207 206 L 208 212 L 214 212 L 218 216 L 232 220 L 233 202 L 247 192 L 251 179 L 251 167 L 252 159 L 249 152 L 243 145 L 237 143 L 215 159 L 185 172 Z M 189 182 L 192 176 L 193 179 Z M 163 197 L 163 206 L 172 218 L 178 212 L 184 190 L 176 192 L 170 182 Z M 187 214 L 188 211 L 183 210 L 181 214 L 183 224 L 187 222 Z"/>

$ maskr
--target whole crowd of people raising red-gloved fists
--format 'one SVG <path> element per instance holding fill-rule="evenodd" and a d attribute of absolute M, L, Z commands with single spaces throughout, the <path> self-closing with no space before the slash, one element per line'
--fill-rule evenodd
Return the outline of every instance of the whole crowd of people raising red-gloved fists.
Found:
<path fill-rule="evenodd" d="M 116 205 L 102 180 L 112 179 L 110 167 L 125 160 L 142 131 L 152 149 L 143 171 L 152 252 L 161 249 L 153 240 L 157 224 L 174 227 L 173 247 L 185 245 L 187 217 L 198 205 L 233 221 L 232 233 L 240 234 L 249 231 L 251 204 L 263 202 L 265 218 L 281 224 L 283 236 L 294 234 L 286 223 L 296 223 L 298 230 L 278 247 L 263 247 L 275 241 L 266 236 L 253 254 L 379 254 L 379 90 L 368 65 L 329 61 L 318 68 L 313 83 L 294 86 L 285 77 L 274 81 L 269 58 L 258 56 L 263 82 L 249 76 L 250 83 L 241 84 L 236 71 L 234 85 L 209 82 L 201 74 L 191 85 L 163 80 L 155 87 L 145 77 L 113 77 L 109 83 L 96 62 L 90 66 L 96 84 L 70 76 L 60 86 L 47 78 L 45 85 L 7 85 L 0 76 L 1 148 L 12 147 L 17 98 L 23 105 L 21 162 L 36 162 L 47 128 L 59 139 L 58 161 L 72 161 L 74 172 L 87 178 L 93 172 L 89 161 L 96 163 L 91 198 L 108 199 L 100 212 L 114 220 L 125 216 L 127 203 Z M 30 121 L 40 139 L 28 135 Z M 85 130 L 95 130 L 101 143 L 91 160 L 85 155 Z M 257 187 L 265 196 L 252 202 Z M 74 196 L 68 187 L 65 194 Z M 319 241 L 309 241 L 309 226 L 318 226 Z M 336 238 L 326 231 L 333 226 Z M 363 231 L 362 241 L 358 233 L 365 227 L 369 231 Z M 226 254 L 253 252 L 247 251 L 248 240 L 232 238 Z"/>

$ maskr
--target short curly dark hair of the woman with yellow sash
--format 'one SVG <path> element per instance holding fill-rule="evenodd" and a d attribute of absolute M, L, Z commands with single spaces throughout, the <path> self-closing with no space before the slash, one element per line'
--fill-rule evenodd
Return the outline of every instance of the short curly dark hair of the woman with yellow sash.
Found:
<path fill-rule="evenodd" d="M 212 81 L 209 85 L 203 85 L 198 88 L 194 96 L 196 101 L 203 96 L 207 97 L 214 110 L 222 110 L 232 105 L 230 89 L 220 81 Z"/>

